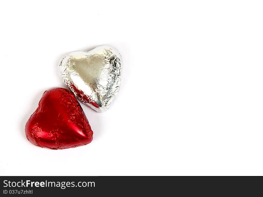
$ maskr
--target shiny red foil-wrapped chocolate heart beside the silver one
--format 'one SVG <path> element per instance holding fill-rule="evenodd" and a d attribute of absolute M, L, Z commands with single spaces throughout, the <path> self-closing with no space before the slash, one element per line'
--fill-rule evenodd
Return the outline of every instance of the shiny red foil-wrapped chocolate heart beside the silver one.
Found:
<path fill-rule="evenodd" d="M 25 133 L 33 145 L 50 149 L 83 146 L 92 141 L 93 135 L 82 107 L 65 88 L 44 92 L 26 123 Z"/>

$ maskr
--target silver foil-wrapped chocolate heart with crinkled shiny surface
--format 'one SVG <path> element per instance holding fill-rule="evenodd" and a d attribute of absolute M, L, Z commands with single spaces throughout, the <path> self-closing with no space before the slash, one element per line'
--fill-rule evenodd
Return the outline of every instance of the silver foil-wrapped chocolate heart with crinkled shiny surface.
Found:
<path fill-rule="evenodd" d="M 119 92 L 122 58 L 111 46 L 71 52 L 59 67 L 74 95 L 97 112 L 107 110 Z"/>

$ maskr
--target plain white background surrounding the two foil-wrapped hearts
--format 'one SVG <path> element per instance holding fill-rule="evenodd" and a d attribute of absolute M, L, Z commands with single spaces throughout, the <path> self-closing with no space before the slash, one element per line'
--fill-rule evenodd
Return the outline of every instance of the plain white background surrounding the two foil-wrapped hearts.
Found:
<path fill-rule="evenodd" d="M 0 175 L 263 175 L 262 1 L 2 1 Z M 120 93 L 94 140 L 25 137 L 61 59 L 112 45 Z"/>

